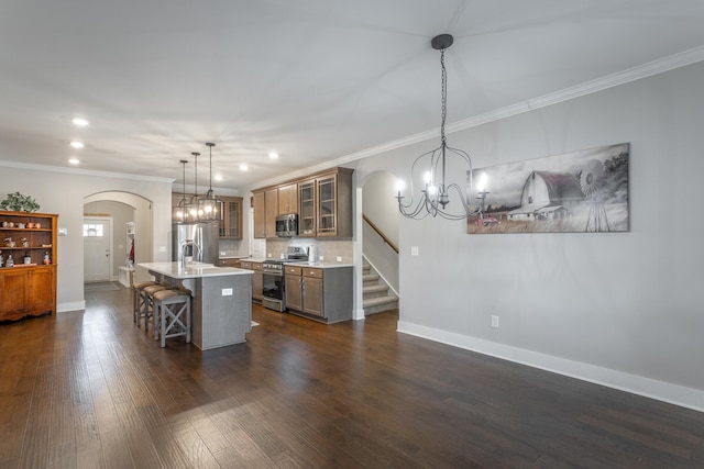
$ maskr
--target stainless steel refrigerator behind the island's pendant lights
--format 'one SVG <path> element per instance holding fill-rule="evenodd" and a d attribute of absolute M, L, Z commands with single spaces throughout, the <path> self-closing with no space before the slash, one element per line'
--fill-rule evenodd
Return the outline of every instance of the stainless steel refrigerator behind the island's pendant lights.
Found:
<path fill-rule="evenodd" d="M 193 245 L 185 248 L 186 257 L 193 257 L 195 263 L 217 264 L 218 239 L 220 222 L 175 223 L 173 225 L 173 257 L 174 261 L 182 261 L 184 256 L 184 243 L 193 241 L 200 249 Z"/>

